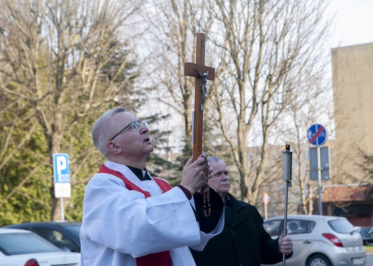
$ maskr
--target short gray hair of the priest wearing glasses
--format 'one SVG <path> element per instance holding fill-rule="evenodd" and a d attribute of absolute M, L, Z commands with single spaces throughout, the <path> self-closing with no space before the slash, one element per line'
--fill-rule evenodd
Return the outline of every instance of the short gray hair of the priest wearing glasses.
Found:
<path fill-rule="evenodd" d="M 126 107 L 117 107 L 114 109 L 110 109 L 107 112 L 103 113 L 94 123 L 92 127 L 92 140 L 95 147 L 98 149 L 99 152 L 105 157 L 109 155 L 109 150 L 106 148 L 106 143 L 110 140 L 111 136 L 108 136 L 111 132 L 112 128 L 112 120 L 111 118 L 113 115 L 120 113 L 120 112 L 127 112 Z"/>

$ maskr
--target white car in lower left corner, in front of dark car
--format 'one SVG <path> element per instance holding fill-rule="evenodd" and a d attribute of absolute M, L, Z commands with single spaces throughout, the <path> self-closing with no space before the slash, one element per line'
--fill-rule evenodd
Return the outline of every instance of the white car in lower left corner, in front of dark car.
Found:
<path fill-rule="evenodd" d="M 0 228 L 1 266 L 80 266 L 80 253 L 63 251 L 34 232 Z"/>

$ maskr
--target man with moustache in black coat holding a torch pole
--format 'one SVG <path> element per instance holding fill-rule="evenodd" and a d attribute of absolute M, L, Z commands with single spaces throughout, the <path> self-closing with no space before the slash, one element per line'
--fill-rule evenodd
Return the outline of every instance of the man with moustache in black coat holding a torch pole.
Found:
<path fill-rule="evenodd" d="M 275 264 L 293 255 L 290 237 L 272 239 L 263 228 L 263 218 L 256 207 L 236 200 L 228 193 L 229 171 L 219 157 L 209 157 L 213 178 L 209 185 L 222 197 L 225 209 L 223 231 L 209 240 L 203 251 L 191 250 L 197 266 L 260 266 Z"/>

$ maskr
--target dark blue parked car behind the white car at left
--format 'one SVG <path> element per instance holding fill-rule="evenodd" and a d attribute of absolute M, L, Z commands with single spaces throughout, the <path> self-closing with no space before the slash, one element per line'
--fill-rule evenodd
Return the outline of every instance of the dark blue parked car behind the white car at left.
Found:
<path fill-rule="evenodd" d="M 81 222 L 78 221 L 46 221 L 9 225 L 4 226 L 3 228 L 29 230 L 35 232 L 39 236 L 42 236 L 63 250 L 80 252 L 80 227 Z"/>

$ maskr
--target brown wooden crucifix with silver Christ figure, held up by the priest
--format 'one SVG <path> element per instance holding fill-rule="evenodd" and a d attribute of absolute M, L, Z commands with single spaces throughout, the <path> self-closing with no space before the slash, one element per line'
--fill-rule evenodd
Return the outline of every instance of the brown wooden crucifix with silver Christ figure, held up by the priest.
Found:
<path fill-rule="evenodd" d="M 204 65 L 206 35 L 197 33 L 196 63 L 184 63 L 184 75 L 195 77 L 194 118 L 193 118 L 193 162 L 202 153 L 203 109 L 207 96 L 206 80 L 215 80 L 215 69 Z"/>

